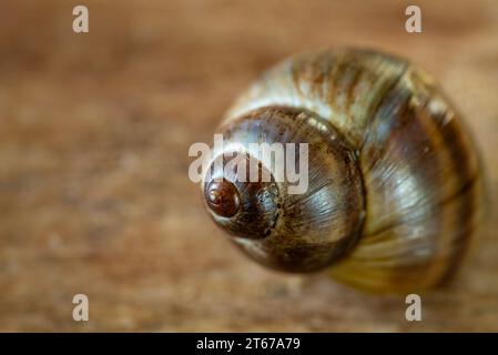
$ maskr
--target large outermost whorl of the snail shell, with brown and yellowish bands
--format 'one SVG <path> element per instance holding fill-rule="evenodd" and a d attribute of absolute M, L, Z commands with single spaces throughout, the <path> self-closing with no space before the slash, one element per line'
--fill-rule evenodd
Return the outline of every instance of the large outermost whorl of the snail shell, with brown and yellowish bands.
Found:
<path fill-rule="evenodd" d="M 341 49 L 301 55 L 266 72 L 225 125 L 265 106 L 313 112 L 358 159 L 366 217 L 334 278 L 378 292 L 433 286 L 459 264 L 479 216 L 476 149 L 433 79 L 404 60 Z"/>

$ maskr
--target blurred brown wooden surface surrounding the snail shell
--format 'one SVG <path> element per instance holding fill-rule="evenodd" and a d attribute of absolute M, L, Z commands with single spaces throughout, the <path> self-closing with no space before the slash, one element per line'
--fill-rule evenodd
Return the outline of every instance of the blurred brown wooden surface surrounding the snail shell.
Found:
<path fill-rule="evenodd" d="M 74 33 L 84 4 L 90 32 Z M 423 33 L 405 31 L 421 9 Z M 289 54 L 364 45 L 431 72 L 498 201 L 498 2 L 1 1 L 0 331 L 498 331 L 497 213 L 449 285 L 373 296 L 243 257 L 203 210 L 187 149 Z M 90 321 L 74 322 L 87 294 Z"/>

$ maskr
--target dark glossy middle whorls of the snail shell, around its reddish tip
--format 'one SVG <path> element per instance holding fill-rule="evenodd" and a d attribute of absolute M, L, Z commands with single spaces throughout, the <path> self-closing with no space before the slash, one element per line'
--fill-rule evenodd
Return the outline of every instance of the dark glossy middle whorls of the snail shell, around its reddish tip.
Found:
<path fill-rule="evenodd" d="M 289 181 L 274 182 L 275 175 L 271 184 L 234 182 L 246 201 L 241 211 L 230 219 L 211 211 L 248 256 L 273 268 L 311 272 L 329 266 L 357 242 L 365 215 L 358 164 L 327 121 L 303 109 L 272 106 L 226 122 L 222 132 L 228 146 L 238 143 L 237 154 L 251 160 L 258 156 L 251 151 L 254 142 L 307 143 L 309 151 L 304 194 L 288 193 Z M 261 170 L 270 166 L 264 159 L 258 163 Z M 225 178 L 234 181 L 231 173 Z"/>

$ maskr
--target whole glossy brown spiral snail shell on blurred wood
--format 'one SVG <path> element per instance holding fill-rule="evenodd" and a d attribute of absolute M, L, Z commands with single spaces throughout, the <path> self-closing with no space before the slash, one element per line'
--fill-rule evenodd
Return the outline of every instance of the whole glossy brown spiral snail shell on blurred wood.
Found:
<path fill-rule="evenodd" d="M 273 176 L 203 181 L 212 219 L 262 264 L 409 292 L 445 280 L 468 248 L 481 196 L 476 149 L 431 77 L 404 60 L 357 49 L 292 58 L 236 101 L 220 132 L 215 159 L 236 143 L 260 172 L 266 162 L 248 143 L 309 146 L 305 194 Z"/>

